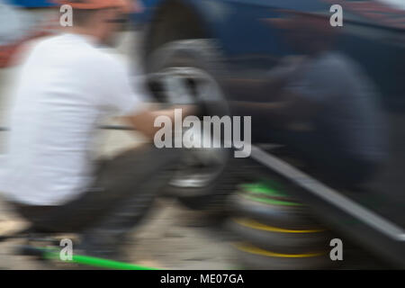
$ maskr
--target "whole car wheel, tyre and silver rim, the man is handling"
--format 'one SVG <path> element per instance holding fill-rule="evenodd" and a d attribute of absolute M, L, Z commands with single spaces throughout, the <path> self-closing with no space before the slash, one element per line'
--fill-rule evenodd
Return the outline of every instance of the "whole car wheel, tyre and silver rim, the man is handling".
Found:
<path fill-rule="evenodd" d="M 169 42 L 151 54 L 147 71 L 152 75 L 149 86 L 159 102 L 176 103 L 179 94 L 186 94 L 188 102 L 198 105 L 203 115 L 229 115 L 221 87 L 224 68 L 213 40 Z M 204 143 L 206 139 L 201 137 L 198 140 Z M 230 148 L 185 149 L 166 193 L 192 209 L 221 205 L 233 190 L 229 189 L 229 155 Z"/>

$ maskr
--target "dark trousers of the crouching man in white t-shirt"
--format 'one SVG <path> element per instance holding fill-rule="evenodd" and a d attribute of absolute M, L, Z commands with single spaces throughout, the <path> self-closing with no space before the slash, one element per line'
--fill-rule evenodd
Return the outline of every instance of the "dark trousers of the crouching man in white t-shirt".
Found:
<path fill-rule="evenodd" d="M 179 149 L 134 148 L 101 162 L 94 185 L 60 206 L 28 206 L 16 210 L 43 232 L 83 232 L 92 238 L 117 238 L 144 218 L 170 176 Z"/>

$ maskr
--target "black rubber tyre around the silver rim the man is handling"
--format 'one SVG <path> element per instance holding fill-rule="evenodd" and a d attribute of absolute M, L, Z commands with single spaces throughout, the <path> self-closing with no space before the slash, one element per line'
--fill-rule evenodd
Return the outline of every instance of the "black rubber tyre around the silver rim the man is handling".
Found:
<path fill-rule="evenodd" d="M 226 73 L 221 63 L 220 49 L 214 40 L 175 40 L 166 43 L 163 47 L 151 53 L 147 61 L 146 70 L 151 75 L 157 75 L 163 71 L 170 71 L 174 67 L 190 68 L 190 70 L 198 71 L 198 73 L 210 79 L 209 81 L 212 81 L 214 87 L 218 88 L 218 97 L 212 97 L 208 101 L 198 98 L 198 94 L 193 95 L 195 103 L 199 106 L 203 115 L 217 115 L 219 117 L 229 115 L 229 108 L 222 89 L 222 79 Z M 193 81 L 193 78 L 190 80 L 191 85 L 198 85 L 198 81 Z M 168 102 L 162 85 L 152 80 L 149 82 L 149 87 L 159 102 Z M 190 90 L 193 90 L 193 86 Z M 197 89 L 195 88 L 195 90 Z M 217 94 L 214 93 L 214 95 Z M 197 151 L 197 153 L 199 152 L 204 153 L 202 150 Z M 211 151 L 207 150 L 205 152 L 210 153 Z M 178 184 L 179 182 L 175 182 L 174 180 L 172 184 L 166 187 L 166 194 L 175 196 L 179 202 L 194 210 L 206 210 L 213 207 L 221 207 L 222 209 L 226 196 L 234 191 L 231 169 L 229 169 L 231 149 L 220 148 L 219 150 L 212 150 L 212 153 L 217 152 L 220 154 L 220 161 L 222 162 L 220 162 L 219 166 L 215 166 L 215 169 L 218 170 L 213 169 L 212 177 L 208 178 L 210 181 L 206 181 L 206 183 L 202 182 L 202 184 Z M 188 153 L 188 151 L 185 151 L 185 153 Z M 203 158 L 204 155 L 202 154 Z M 179 170 L 181 169 L 182 167 L 179 168 Z M 184 179 L 193 179 L 191 176 L 187 176 L 187 171 L 185 171 L 187 167 L 185 166 L 183 169 Z M 193 170 L 190 169 L 190 171 Z M 179 177 L 181 177 L 181 173 Z"/>

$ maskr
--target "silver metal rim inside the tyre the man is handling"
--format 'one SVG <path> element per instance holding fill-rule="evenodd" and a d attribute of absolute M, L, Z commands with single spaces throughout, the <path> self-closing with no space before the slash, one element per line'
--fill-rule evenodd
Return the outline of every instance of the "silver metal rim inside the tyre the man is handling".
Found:
<path fill-rule="evenodd" d="M 181 98 L 183 103 L 197 103 L 198 100 L 205 103 L 219 103 L 222 105 L 222 111 L 226 109 L 220 86 L 210 74 L 202 69 L 167 67 L 154 76 L 157 76 L 165 86 L 166 101 L 170 103 L 178 103 Z M 216 107 L 221 108 L 219 105 L 217 104 Z M 193 141 L 204 143 L 206 139 L 203 135 L 194 132 Z M 218 142 L 218 139 L 213 139 L 213 143 L 215 142 Z M 169 184 L 177 188 L 207 187 L 221 174 L 227 160 L 228 151 L 224 148 L 186 149 L 178 170 Z"/>

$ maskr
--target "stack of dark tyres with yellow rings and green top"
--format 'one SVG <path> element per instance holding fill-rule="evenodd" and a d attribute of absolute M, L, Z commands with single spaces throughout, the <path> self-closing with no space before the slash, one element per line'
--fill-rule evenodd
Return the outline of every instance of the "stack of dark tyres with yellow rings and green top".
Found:
<path fill-rule="evenodd" d="M 240 185 L 230 197 L 229 230 L 240 264 L 250 269 L 324 269 L 329 231 L 308 207 L 275 183 Z"/>

